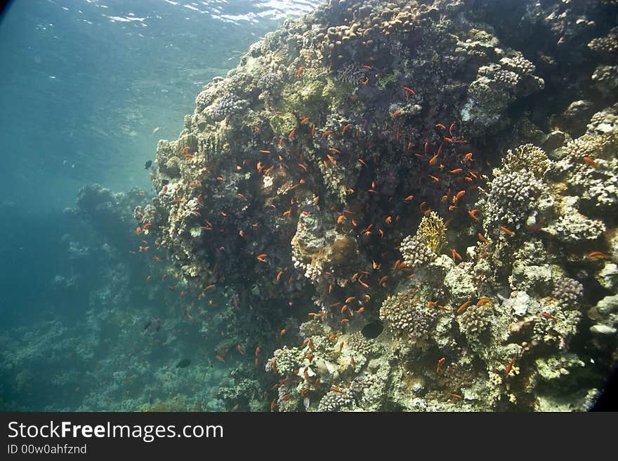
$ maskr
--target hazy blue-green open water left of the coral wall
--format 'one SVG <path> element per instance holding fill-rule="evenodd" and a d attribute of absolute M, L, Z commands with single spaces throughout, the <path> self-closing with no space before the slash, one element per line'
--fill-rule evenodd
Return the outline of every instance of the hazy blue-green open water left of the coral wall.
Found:
<path fill-rule="evenodd" d="M 148 383 L 151 402 L 182 393 L 157 384 L 166 380 L 155 365 L 176 372 L 182 344 L 199 331 L 175 323 L 173 354 L 147 349 L 157 338 L 144 339 L 143 323 L 169 314 L 169 302 L 149 298 L 149 274 L 124 236 L 114 246 L 100 226 L 64 210 L 84 185 L 133 189 L 117 203 L 129 223 L 151 192 L 145 161 L 159 139 L 176 139 L 202 86 L 318 3 L 18 0 L 4 11 L 0 408 L 139 410 Z"/>

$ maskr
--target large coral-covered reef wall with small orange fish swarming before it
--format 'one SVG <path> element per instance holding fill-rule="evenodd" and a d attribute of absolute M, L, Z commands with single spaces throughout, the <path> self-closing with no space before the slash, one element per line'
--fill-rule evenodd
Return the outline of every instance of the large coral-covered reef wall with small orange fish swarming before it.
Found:
<path fill-rule="evenodd" d="M 192 319 L 251 352 L 222 398 L 590 408 L 617 359 L 617 19 L 329 1 L 206 85 L 136 218 L 227 300 Z"/>

